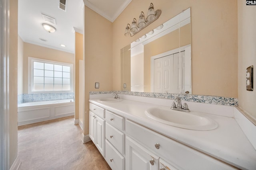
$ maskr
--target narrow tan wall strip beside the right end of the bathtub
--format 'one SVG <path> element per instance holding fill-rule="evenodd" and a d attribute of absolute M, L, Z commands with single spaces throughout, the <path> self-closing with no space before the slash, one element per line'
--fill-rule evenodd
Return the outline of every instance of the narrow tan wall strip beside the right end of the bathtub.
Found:
<path fill-rule="evenodd" d="M 75 119 L 79 117 L 79 60 L 84 58 L 84 36 L 80 33 L 75 33 Z"/>

